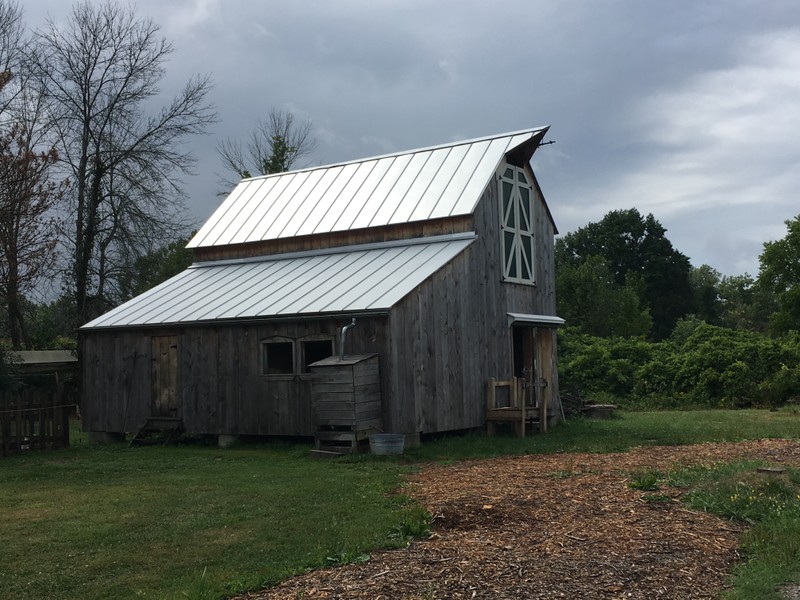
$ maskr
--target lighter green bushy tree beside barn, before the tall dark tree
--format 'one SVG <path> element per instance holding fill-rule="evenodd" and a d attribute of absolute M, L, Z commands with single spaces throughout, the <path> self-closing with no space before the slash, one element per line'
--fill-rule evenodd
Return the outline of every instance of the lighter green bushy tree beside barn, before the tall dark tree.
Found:
<path fill-rule="evenodd" d="M 557 269 L 556 300 L 558 314 L 589 335 L 645 337 L 652 325 L 636 290 L 618 285 L 599 256 Z"/>

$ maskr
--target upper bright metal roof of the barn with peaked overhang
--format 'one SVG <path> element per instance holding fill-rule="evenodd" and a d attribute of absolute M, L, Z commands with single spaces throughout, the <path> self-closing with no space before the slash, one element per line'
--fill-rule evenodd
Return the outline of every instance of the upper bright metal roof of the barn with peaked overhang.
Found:
<path fill-rule="evenodd" d="M 504 156 L 547 127 L 245 179 L 189 248 L 471 214 Z"/>

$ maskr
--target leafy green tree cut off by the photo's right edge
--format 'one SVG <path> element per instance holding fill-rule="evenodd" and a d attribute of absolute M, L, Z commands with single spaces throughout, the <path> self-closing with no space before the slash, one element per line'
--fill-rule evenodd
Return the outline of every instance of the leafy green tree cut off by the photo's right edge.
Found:
<path fill-rule="evenodd" d="M 800 331 L 800 215 L 786 228 L 786 237 L 766 242 L 759 257 L 758 285 L 777 303 L 770 317 L 775 333 Z"/>

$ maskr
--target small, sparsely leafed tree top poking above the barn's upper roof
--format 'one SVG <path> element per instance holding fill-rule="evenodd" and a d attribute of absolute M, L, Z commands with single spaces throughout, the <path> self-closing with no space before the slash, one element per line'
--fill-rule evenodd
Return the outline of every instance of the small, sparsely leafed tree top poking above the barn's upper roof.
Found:
<path fill-rule="evenodd" d="M 288 110 L 273 108 L 244 145 L 231 139 L 217 145 L 222 166 L 237 176 L 235 181 L 221 176 L 220 184 L 230 189 L 239 179 L 288 171 L 317 147 L 311 128 L 311 121 L 297 122 Z"/>

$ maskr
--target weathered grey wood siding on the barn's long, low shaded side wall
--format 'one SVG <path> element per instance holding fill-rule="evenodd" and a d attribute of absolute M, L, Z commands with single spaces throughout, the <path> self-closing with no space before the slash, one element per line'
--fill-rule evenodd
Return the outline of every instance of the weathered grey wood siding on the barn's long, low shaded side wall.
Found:
<path fill-rule="evenodd" d="M 385 317 L 363 318 L 347 335 L 348 353 L 386 356 Z M 330 336 L 338 348 L 349 318 L 192 326 L 177 330 L 91 331 L 83 334 L 82 412 L 87 431 L 131 432 L 153 409 L 153 339 L 174 337 L 177 416 L 198 434 L 314 434 L 311 373 L 261 373 L 261 342 L 273 337 Z M 299 365 L 298 365 L 299 367 Z M 381 372 L 384 371 L 381 365 Z M 298 369 L 299 371 L 299 369 Z M 386 369 L 391 372 L 391 369 Z M 384 375 L 381 375 L 382 386 Z"/>

